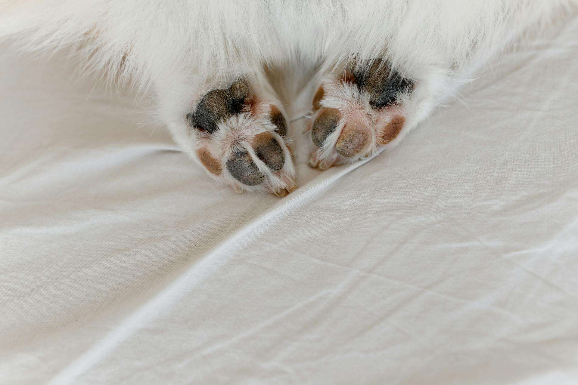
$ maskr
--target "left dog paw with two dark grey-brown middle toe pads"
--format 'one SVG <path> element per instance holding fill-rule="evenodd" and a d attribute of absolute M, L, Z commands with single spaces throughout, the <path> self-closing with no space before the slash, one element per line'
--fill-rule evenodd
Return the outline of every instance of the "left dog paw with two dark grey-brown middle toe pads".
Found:
<path fill-rule="evenodd" d="M 195 155 L 209 175 L 236 192 L 285 196 L 297 188 L 287 120 L 278 100 L 254 88 L 238 79 L 198 100 L 186 114 Z"/>

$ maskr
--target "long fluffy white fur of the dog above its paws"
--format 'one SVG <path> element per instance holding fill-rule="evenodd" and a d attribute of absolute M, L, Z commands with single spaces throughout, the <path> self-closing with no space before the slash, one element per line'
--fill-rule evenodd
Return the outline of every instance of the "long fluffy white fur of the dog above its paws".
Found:
<path fill-rule="evenodd" d="M 75 47 L 85 72 L 131 80 L 139 90 L 153 87 L 160 102 L 155 114 L 192 155 L 195 138 L 184 114 L 206 91 L 239 76 L 253 77 L 256 87 L 266 88 L 260 92 L 275 99 L 264 65 L 307 61 L 317 63 L 324 76 L 352 58 L 386 58 L 418 82 L 405 100 L 413 126 L 528 27 L 539 31 L 576 5 L 577 0 L 0 0 L 0 40 L 28 51 Z"/>

